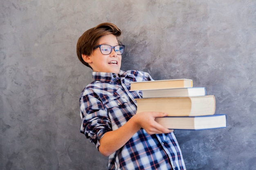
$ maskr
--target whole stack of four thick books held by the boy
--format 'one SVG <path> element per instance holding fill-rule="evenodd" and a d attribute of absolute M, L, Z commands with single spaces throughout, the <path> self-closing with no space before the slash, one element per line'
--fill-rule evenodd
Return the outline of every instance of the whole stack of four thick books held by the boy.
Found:
<path fill-rule="evenodd" d="M 169 129 L 202 130 L 227 127 L 226 115 L 215 114 L 215 97 L 205 87 L 193 87 L 191 79 L 131 82 L 130 91 L 142 91 L 137 113 L 163 112 L 155 121 Z"/>

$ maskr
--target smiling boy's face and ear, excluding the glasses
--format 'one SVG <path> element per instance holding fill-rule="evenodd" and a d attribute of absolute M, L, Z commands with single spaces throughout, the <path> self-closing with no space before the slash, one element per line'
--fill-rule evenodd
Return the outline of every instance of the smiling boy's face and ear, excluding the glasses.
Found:
<path fill-rule="evenodd" d="M 99 39 L 97 45 L 108 44 L 110 46 L 119 45 L 115 35 L 109 34 L 104 35 Z M 117 55 L 114 49 L 108 55 L 103 55 L 100 48 L 96 48 L 92 51 L 89 56 L 83 56 L 83 60 L 87 62 L 93 71 L 96 72 L 106 72 L 106 73 L 119 73 L 121 68 L 121 55 Z"/>

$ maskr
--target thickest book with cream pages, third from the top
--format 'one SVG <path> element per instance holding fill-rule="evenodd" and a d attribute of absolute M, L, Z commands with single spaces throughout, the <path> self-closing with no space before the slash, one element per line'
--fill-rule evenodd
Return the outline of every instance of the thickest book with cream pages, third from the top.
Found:
<path fill-rule="evenodd" d="M 202 116 L 215 113 L 215 97 L 213 95 L 140 98 L 136 101 L 137 113 L 163 112 L 168 116 Z"/>

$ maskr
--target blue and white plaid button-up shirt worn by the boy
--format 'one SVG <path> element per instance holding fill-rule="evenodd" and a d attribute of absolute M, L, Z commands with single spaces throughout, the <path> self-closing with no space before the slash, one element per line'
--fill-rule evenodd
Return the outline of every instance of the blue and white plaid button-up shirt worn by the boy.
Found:
<path fill-rule="evenodd" d="M 136 98 L 141 91 L 129 91 L 130 82 L 153 80 L 148 73 L 119 71 L 93 72 L 94 82 L 80 96 L 81 133 L 99 147 L 105 132 L 123 126 L 136 114 Z M 125 135 L 125 134 L 124 134 Z M 140 129 L 119 150 L 109 156 L 109 170 L 185 170 L 185 164 L 173 132 L 148 135 Z"/>

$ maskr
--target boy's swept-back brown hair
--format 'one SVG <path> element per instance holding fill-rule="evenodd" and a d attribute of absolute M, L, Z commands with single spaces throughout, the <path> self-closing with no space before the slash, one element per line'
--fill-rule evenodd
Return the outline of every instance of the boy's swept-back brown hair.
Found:
<path fill-rule="evenodd" d="M 77 57 L 85 66 L 90 67 L 89 64 L 83 60 L 82 54 L 91 55 L 93 47 L 97 46 L 99 39 L 108 34 L 113 34 L 116 37 L 119 37 L 121 35 L 121 30 L 115 24 L 105 22 L 94 28 L 88 29 L 78 39 L 76 44 Z"/>

